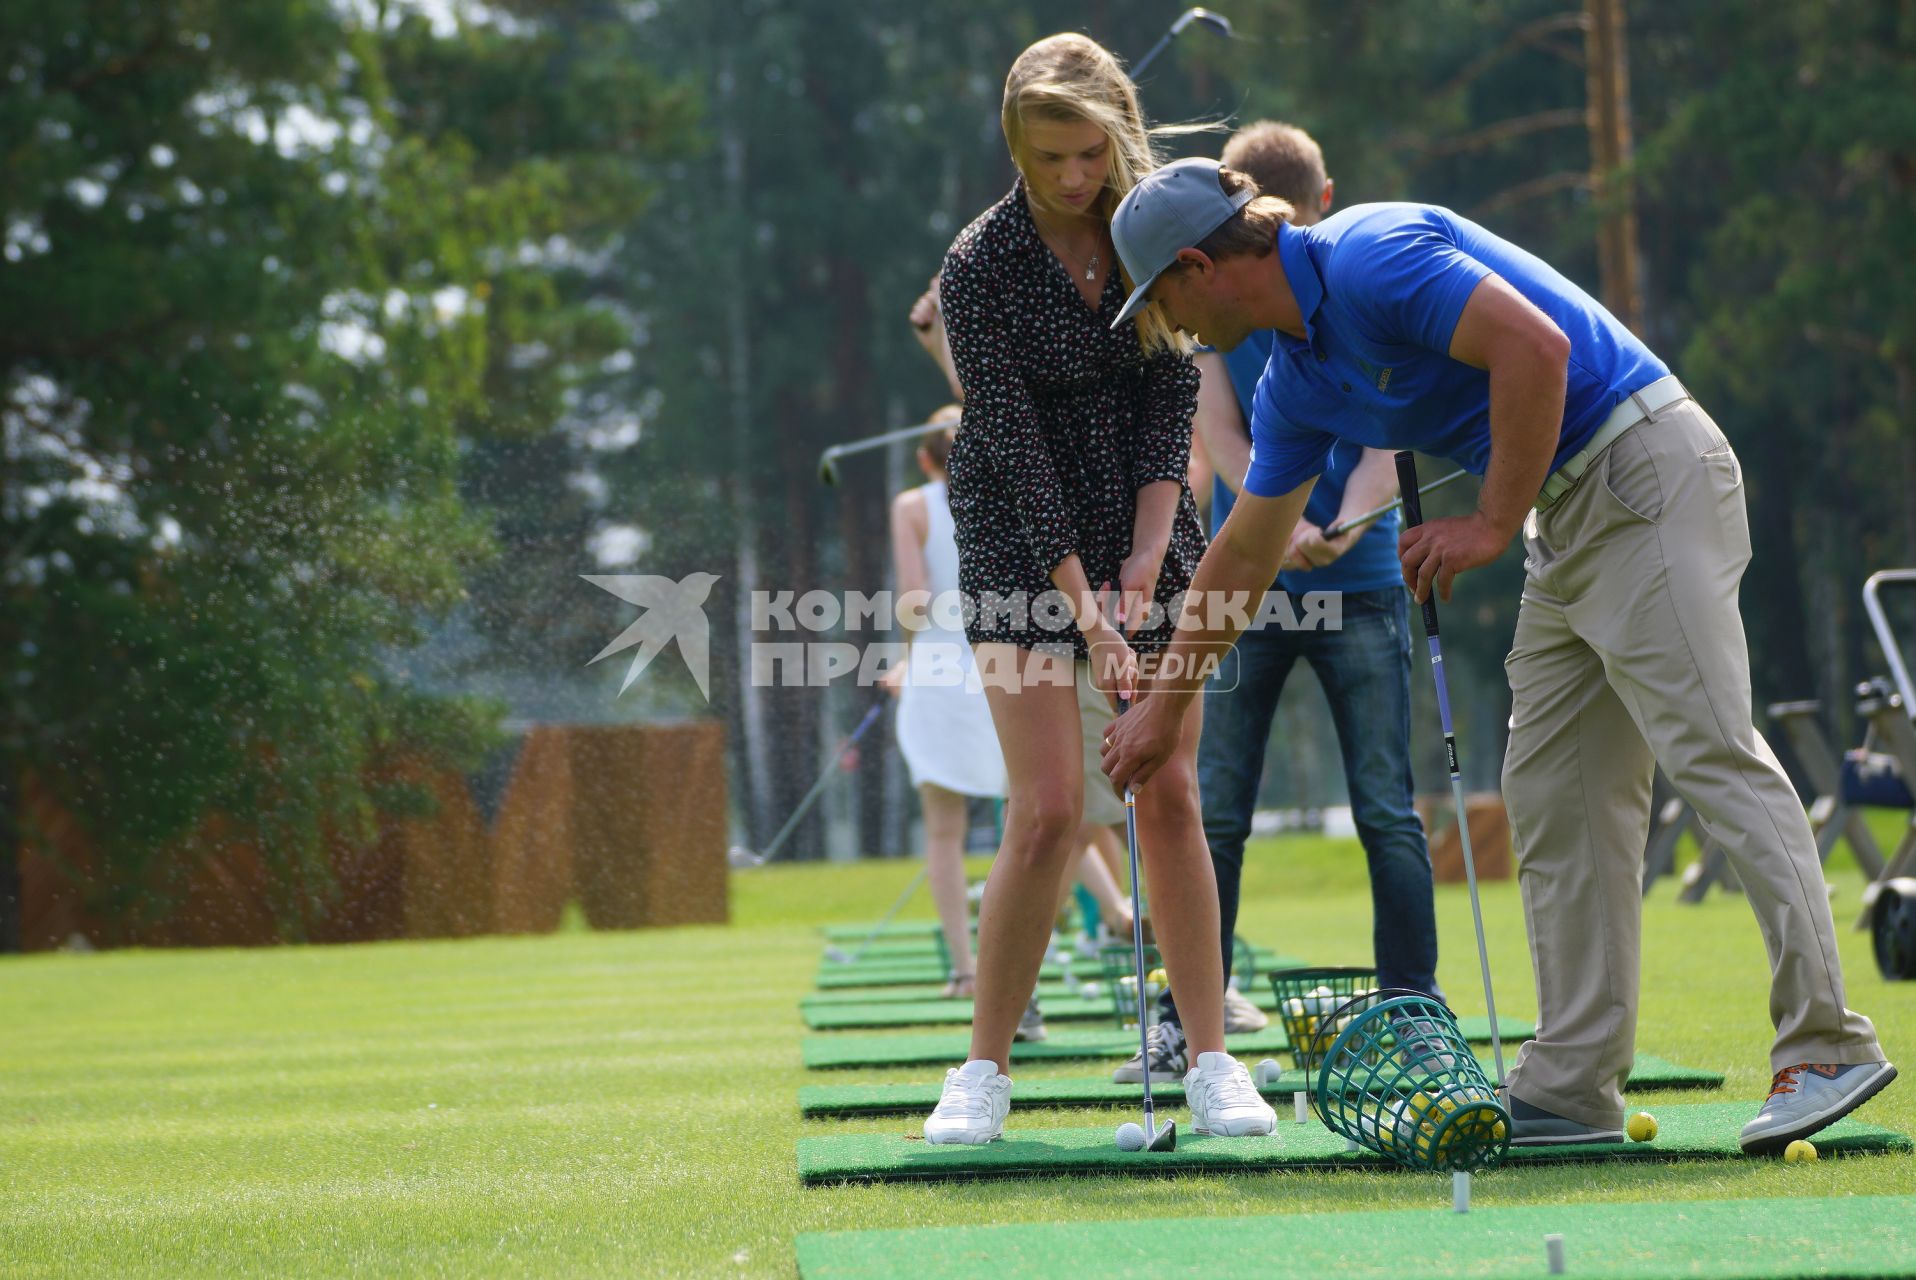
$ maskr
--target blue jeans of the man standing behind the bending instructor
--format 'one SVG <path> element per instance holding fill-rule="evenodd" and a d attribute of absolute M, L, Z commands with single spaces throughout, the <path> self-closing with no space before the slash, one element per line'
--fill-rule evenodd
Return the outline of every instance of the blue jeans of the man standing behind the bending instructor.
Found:
<path fill-rule="evenodd" d="M 1378 983 L 1441 998 L 1431 858 L 1410 805 L 1410 596 L 1401 586 L 1345 592 L 1341 630 L 1270 625 L 1243 632 L 1205 686 L 1198 793 L 1217 868 L 1224 975 L 1232 968 L 1243 841 L 1251 835 L 1265 745 L 1299 657 L 1311 663 L 1330 701 L 1351 816 L 1370 860 Z"/>

